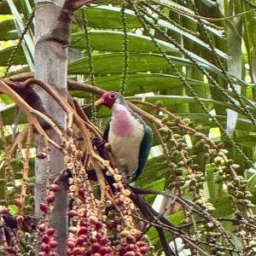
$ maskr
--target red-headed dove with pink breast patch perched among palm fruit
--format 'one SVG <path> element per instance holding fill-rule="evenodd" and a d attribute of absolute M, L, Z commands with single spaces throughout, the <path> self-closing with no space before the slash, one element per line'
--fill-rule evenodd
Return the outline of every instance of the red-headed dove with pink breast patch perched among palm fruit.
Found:
<path fill-rule="evenodd" d="M 103 138 L 108 141 L 116 165 L 127 183 L 137 179 L 143 172 L 152 146 L 153 133 L 144 120 L 115 91 L 105 92 L 95 106 L 112 109 L 111 119 Z"/>

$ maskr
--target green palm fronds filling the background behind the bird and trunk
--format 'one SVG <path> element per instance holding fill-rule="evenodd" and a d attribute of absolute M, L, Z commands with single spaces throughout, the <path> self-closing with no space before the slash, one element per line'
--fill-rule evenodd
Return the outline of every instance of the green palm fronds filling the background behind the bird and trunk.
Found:
<path fill-rule="evenodd" d="M 21 73 L 32 68 L 29 64 L 34 47 L 33 27 L 22 40 L 22 47 L 18 40 L 22 33 L 19 19 L 26 24 L 33 3 L 23 0 L 13 2 L 18 9 L 17 13 L 6 1 L 0 7 L 2 75 L 6 70 Z M 105 90 L 122 91 L 129 99 L 141 99 L 142 96 L 135 95 L 153 92 L 154 95 L 145 97 L 146 102 L 161 102 L 170 112 L 177 113 L 183 119 L 190 119 L 194 124 L 201 124 L 202 131 L 209 134 L 214 141 L 224 143 L 230 158 L 240 166 L 238 172 L 247 179 L 247 188 L 253 194 L 251 200 L 255 203 L 256 171 L 249 164 L 255 161 L 256 145 L 256 1 L 223 0 L 217 3 L 201 0 L 195 1 L 195 6 L 190 1 L 184 3 L 181 0 L 143 2 L 146 9 L 141 6 L 140 12 L 145 19 L 144 23 L 149 24 L 148 31 L 141 23 L 142 18 L 133 10 L 126 9 L 120 1 L 110 1 L 110 4 L 98 1 L 96 5 L 76 12 L 77 24 L 73 24 L 69 45 L 69 78 L 96 84 Z M 143 11 L 148 11 L 149 15 L 145 15 Z M 232 15 L 237 16 L 232 18 Z M 176 71 L 171 68 L 170 63 L 176 66 Z M 16 65 L 19 67 L 14 68 Z M 183 83 L 184 79 L 189 87 Z M 229 89 L 229 81 L 241 86 L 242 108 L 241 104 L 237 107 L 237 93 Z M 71 93 L 83 98 L 84 103 L 92 100 L 88 93 Z M 16 108 L 6 96 L 0 97 L 5 106 L 1 111 L 3 125 L 11 125 L 15 120 Z M 238 113 L 232 142 L 240 145 L 244 155 L 237 152 L 230 139 L 224 136 L 223 128 L 218 126 L 225 128 L 228 119 L 236 119 L 236 116 L 227 116 L 227 108 Z M 106 109 L 95 114 L 96 119 L 103 120 L 103 124 L 110 116 Z M 218 121 L 218 125 L 212 120 L 212 116 Z M 26 122 L 22 113 L 19 122 Z M 9 126 L 6 127 L 6 135 L 11 137 L 12 131 Z M 189 147 L 193 148 L 193 138 L 190 137 L 190 140 Z M 2 143 L 0 145 L 3 149 Z M 159 142 L 155 141 L 154 146 L 158 145 Z M 137 181 L 137 186 L 158 191 L 166 189 L 168 166 L 162 154 L 159 147 L 152 150 L 151 158 L 143 176 Z M 200 171 L 206 177 L 204 194 L 212 202 L 213 216 L 230 218 L 234 212 L 227 189 L 222 183 L 218 183 L 218 175 L 212 172 L 214 166 L 205 160 L 203 149 L 198 151 L 195 148 L 195 154 Z M 19 165 L 15 168 L 19 172 Z M 189 193 L 185 196 L 189 198 Z M 154 199 L 155 196 L 148 196 L 151 203 Z M 183 213 L 174 212 L 168 218 L 174 224 L 181 224 Z M 229 230 L 228 226 L 227 229 Z M 156 232 L 150 230 L 149 235 L 154 246 L 160 249 Z"/>

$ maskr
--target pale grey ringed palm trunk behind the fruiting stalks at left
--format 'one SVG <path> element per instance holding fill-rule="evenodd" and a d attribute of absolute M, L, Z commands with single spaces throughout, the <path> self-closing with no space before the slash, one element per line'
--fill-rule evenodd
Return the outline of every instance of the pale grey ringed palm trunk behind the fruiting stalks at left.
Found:
<path fill-rule="evenodd" d="M 67 12 L 61 12 L 65 0 L 35 2 L 35 78 L 52 84 L 62 96 L 67 97 L 67 48 L 63 48 L 63 45 L 68 42 L 70 19 Z M 45 91 L 38 89 L 38 95 L 42 99 L 45 112 L 65 131 L 66 113 Z M 52 129 L 47 133 L 60 143 L 60 138 Z M 44 143 L 41 137 L 37 137 L 36 141 L 38 154 L 44 149 Z M 64 155 L 59 149 L 49 146 L 49 157 L 49 162 L 47 159 L 36 160 L 35 213 L 38 218 L 42 218 L 39 207 L 46 199 L 47 178 L 55 177 L 64 169 Z M 55 193 L 54 209 L 49 214 L 49 224 L 55 228 L 55 237 L 59 244 L 58 255 L 67 255 L 67 191 Z"/>

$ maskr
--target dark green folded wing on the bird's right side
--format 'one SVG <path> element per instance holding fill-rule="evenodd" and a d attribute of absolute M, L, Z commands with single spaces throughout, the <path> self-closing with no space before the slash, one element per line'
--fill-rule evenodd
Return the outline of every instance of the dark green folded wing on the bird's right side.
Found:
<path fill-rule="evenodd" d="M 135 177 L 132 179 L 132 181 L 136 180 L 137 177 L 139 177 L 140 174 L 143 172 L 144 166 L 148 160 L 148 154 L 149 154 L 150 148 L 152 146 L 152 141 L 153 141 L 152 130 L 148 125 L 145 125 L 143 141 L 140 145 L 137 171 L 136 171 Z"/>

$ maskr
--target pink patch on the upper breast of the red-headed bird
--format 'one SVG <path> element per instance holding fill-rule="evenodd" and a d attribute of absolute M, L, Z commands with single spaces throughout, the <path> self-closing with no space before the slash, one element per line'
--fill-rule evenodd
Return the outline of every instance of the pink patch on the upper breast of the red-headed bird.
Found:
<path fill-rule="evenodd" d="M 127 137 L 131 134 L 131 115 L 125 110 L 115 110 L 111 121 L 113 134 L 119 137 Z"/>

